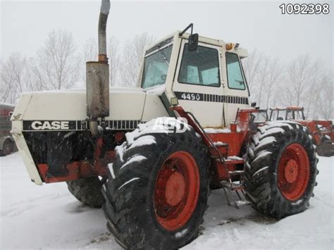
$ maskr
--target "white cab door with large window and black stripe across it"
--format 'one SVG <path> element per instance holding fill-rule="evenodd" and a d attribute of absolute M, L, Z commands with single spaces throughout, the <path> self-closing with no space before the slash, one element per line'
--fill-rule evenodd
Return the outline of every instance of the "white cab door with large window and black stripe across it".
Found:
<path fill-rule="evenodd" d="M 181 43 L 172 90 L 202 127 L 225 125 L 220 51 L 220 46 L 201 42 L 197 51 L 188 51 L 187 40 Z"/>

